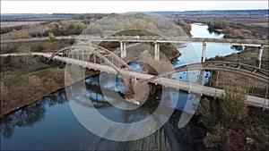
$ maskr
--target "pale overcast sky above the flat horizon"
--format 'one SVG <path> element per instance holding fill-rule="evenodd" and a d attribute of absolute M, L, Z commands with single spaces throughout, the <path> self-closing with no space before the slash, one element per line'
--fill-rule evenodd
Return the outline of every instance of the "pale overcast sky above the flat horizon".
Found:
<path fill-rule="evenodd" d="M 10 1 L 1 13 L 126 13 L 146 11 L 268 9 L 268 1 Z"/>

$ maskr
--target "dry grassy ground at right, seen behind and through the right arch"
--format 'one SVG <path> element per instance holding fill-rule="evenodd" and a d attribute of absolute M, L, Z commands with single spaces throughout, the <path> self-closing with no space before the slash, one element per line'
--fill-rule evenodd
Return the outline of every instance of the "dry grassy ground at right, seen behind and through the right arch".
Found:
<path fill-rule="evenodd" d="M 224 61 L 224 62 L 239 62 L 248 65 L 256 66 L 256 47 L 245 47 L 245 50 L 238 54 L 227 55 L 223 57 L 215 57 L 209 59 L 209 61 Z M 262 57 L 262 69 L 269 70 L 269 53 L 268 48 L 264 49 L 264 55 Z M 213 77 L 210 79 L 207 85 L 216 87 L 217 72 L 213 71 Z M 246 76 L 240 74 L 231 73 L 227 71 L 219 71 L 217 88 L 227 89 L 232 87 L 242 88 L 248 95 L 265 97 L 267 83 L 258 80 L 252 80 Z M 267 94 L 268 98 L 269 94 Z"/>

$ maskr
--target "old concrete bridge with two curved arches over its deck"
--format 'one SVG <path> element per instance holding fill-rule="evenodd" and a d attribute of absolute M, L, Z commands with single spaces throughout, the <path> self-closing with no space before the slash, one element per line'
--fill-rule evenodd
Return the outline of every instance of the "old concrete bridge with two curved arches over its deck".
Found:
<path fill-rule="evenodd" d="M 205 46 L 203 46 L 204 51 Z M 46 57 L 46 56 L 45 56 Z M 139 73 L 132 71 L 125 61 L 121 57 L 115 55 L 108 49 L 96 46 L 92 43 L 81 42 L 76 46 L 69 46 L 57 51 L 55 54 L 47 56 L 49 60 L 58 60 L 65 63 L 72 63 L 80 65 L 84 68 L 94 69 L 98 71 L 105 71 L 108 73 L 121 74 L 125 77 L 127 89 L 132 89 L 134 81 L 143 80 L 144 82 L 151 82 L 160 84 L 169 88 L 181 89 L 187 92 L 192 92 L 204 96 L 220 97 L 224 90 L 219 88 L 210 88 L 199 84 L 188 83 L 180 80 L 174 80 L 168 78 L 169 75 L 179 71 L 230 71 L 247 76 L 253 80 L 259 80 L 262 82 L 268 82 L 269 71 L 260 69 L 259 67 L 250 66 L 243 63 L 231 63 L 231 62 L 202 62 L 193 63 L 178 67 L 172 71 L 168 71 L 161 75 L 151 75 L 146 73 Z M 98 59 L 97 59 L 98 58 Z M 202 60 L 203 61 L 203 60 Z M 254 105 L 256 107 L 263 107 L 268 109 L 268 99 L 266 98 L 268 93 L 268 86 L 266 90 L 265 98 L 258 96 L 247 96 L 248 105 Z"/>

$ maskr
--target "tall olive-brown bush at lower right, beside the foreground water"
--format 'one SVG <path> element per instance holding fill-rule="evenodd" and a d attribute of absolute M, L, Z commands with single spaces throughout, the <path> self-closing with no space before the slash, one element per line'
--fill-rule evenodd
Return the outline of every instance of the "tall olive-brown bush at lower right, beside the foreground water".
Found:
<path fill-rule="evenodd" d="M 243 90 L 230 88 L 219 100 L 210 102 L 207 98 L 197 108 L 200 122 L 209 129 L 204 137 L 204 146 L 221 150 L 246 150 L 246 138 L 251 125 L 247 122 L 247 102 Z"/>

